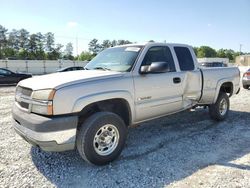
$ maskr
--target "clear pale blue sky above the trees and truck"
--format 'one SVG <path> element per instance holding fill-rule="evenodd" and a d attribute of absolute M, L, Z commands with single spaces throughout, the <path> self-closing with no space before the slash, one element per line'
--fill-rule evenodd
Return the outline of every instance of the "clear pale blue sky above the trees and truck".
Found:
<path fill-rule="evenodd" d="M 250 0 L 1 0 L 0 24 L 53 32 L 75 55 L 93 38 L 250 52 Z"/>

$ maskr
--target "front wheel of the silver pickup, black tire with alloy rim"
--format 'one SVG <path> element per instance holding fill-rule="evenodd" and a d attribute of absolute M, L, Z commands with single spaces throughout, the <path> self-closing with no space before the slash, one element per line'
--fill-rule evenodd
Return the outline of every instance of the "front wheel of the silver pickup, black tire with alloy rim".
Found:
<path fill-rule="evenodd" d="M 76 136 L 76 147 L 85 161 L 105 165 L 120 155 L 126 137 L 127 127 L 118 115 L 97 112 L 81 125 Z"/>

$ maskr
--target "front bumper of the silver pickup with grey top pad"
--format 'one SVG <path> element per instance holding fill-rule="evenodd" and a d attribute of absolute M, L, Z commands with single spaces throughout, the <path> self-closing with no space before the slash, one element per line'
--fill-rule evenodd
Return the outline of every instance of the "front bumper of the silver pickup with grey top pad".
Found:
<path fill-rule="evenodd" d="M 75 148 L 77 116 L 44 117 L 12 109 L 13 127 L 24 140 L 45 151 L 66 151 Z"/>

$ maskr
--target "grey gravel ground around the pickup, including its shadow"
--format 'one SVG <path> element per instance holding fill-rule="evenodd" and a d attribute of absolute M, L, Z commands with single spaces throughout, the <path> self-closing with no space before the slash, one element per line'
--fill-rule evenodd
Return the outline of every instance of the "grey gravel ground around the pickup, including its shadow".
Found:
<path fill-rule="evenodd" d="M 26 143 L 11 127 L 14 90 L 0 88 L 0 187 L 250 187 L 250 90 L 231 98 L 224 122 L 196 109 L 130 128 L 103 167 Z"/>

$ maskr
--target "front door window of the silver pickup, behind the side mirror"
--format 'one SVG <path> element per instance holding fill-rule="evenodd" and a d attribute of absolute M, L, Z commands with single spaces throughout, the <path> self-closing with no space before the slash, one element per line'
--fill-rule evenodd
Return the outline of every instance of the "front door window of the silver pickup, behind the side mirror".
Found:
<path fill-rule="evenodd" d="M 142 65 L 151 65 L 152 62 L 166 62 L 171 72 L 176 71 L 171 51 L 167 46 L 155 46 L 148 50 Z"/>

